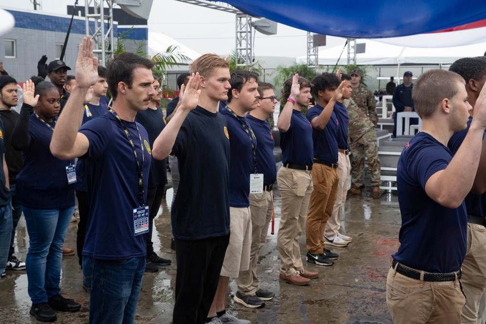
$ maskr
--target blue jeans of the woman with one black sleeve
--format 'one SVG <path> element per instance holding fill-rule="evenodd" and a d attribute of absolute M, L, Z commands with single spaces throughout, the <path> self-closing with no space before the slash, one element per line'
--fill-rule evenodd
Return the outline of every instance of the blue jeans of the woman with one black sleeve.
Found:
<path fill-rule="evenodd" d="M 28 292 L 32 303 L 47 303 L 60 291 L 62 246 L 74 206 L 61 209 L 33 209 L 22 206 L 29 251 L 25 259 Z"/>

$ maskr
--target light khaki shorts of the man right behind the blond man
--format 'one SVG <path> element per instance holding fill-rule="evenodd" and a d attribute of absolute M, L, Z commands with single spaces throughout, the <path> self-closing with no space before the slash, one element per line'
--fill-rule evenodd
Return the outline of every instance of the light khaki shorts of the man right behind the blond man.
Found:
<path fill-rule="evenodd" d="M 229 207 L 229 244 L 221 275 L 237 278 L 250 267 L 251 215 L 249 207 Z"/>

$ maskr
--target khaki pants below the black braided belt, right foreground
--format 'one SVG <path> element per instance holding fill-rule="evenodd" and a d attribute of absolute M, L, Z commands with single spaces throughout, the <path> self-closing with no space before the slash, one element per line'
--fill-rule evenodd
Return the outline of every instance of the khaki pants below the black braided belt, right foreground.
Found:
<path fill-rule="evenodd" d="M 390 267 L 386 278 L 386 304 L 395 324 L 460 324 L 466 297 L 459 279 L 416 280 Z"/>

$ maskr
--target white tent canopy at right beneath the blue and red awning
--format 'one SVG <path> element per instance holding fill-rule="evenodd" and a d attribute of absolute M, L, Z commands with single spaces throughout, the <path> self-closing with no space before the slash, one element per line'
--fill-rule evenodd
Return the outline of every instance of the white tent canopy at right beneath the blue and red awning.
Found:
<path fill-rule="evenodd" d="M 366 51 L 356 54 L 358 65 L 399 65 L 399 64 L 452 64 L 462 57 L 482 56 L 486 51 L 486 43 L 447 48 L 413 48 L 384 44 L 370 39 L 358 39 L 357 43 L 366 43 Z M 320 65 L 335 65 L 344 43 L 330 49 L 319 51 Z M 306 63 L 307 57 L 299 56 L 297 63 Z M 347 49 L 345 48 L 339 65 L 347 64 Z"/>

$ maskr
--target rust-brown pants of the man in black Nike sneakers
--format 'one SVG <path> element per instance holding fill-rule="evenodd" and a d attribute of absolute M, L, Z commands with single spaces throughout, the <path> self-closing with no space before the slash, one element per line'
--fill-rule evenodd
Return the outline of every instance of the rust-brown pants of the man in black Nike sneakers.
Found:
<path fill-rule="evenodd" d="M 314 191 L 307 214 L 306 243 L 312 254 L 322 254 L 326 249 L 324 229 L 336 202 L 339 173 L 337 169 L 314 163 L 311 175 Z"/>

